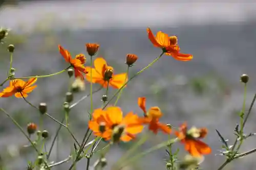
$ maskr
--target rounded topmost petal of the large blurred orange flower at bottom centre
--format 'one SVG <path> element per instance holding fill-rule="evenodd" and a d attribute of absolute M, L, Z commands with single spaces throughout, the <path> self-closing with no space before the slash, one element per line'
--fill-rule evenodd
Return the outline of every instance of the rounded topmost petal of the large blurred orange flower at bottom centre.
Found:
<path fill-rule="evenodd" d="M 123 118 L 123 112 L 119 107 L 106 108 L 106 117 L 112 124 L 120 124 Z"/>

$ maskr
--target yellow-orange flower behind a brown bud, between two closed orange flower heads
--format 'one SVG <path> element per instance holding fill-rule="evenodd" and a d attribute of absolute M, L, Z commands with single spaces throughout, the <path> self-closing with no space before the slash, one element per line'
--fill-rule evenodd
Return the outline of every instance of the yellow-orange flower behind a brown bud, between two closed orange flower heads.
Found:
<path fill-rule="evenodd" d="M 105 77 L 105 72 L 106 70 L 111 70 L 113 72 L 113 67 L 108 66 L 106 61 L 103 58 L 96 58 L 94 60 L 94 67 L 92 68 L 92 82 L 93 83 L 99 83 L 101 84 L 104 88 L 108 86 L 108 80 Z M 89 71 L 89 74 L 86 75 L 86 79 L 88 81 L 91 81 L 91 67 L 86 67 L 86 70 Z M 108 71 L 108 72 L 109 72 Z M 109 85 L 112 86 L 113 88 L 121 88 L 123 84 L 127 81 L 127 74 L 119 74 L 119 75 L 112 75 L 111 79 L 109 80 Z M 126 78 L 126 80 L 125 80 Z"/>

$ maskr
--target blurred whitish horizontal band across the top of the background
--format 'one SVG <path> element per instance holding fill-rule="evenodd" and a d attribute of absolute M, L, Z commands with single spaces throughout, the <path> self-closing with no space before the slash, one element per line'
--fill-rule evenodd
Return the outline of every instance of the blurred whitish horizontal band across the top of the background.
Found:
<path fill-rule="evenodd" d="M 143 3 L 144 2 L 144 3 Z M 40 19 L 48 18 L 52 27 L 70 29 L 106 29 L 179 25 L 223 24 L 244 22 L 255 18 L 256 3 L 158 1 L 145 3 L 103 3 L 100 1 L 30 2 L 18 6 L 3 6 L 1 26 L 29 31 Z M 69 23 L 69 24 L 68 24 Z M 73 23 L 73 24 L 70 24 Z"/>

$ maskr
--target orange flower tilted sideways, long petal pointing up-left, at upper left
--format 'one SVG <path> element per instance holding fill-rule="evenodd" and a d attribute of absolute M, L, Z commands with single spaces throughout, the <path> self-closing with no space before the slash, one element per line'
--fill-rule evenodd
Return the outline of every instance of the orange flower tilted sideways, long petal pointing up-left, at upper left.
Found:
<path fill-rule="evenodd" d="M 84 74 L 88 73 L 88 71 L 83 65 L 84 63 L 86 63 L 86 57 L 83 54 L 78 54 L 76 55 L 75 59 L 72 59 L 69 51 L 67 51 L 65 48 L 63 48 L 60 45 L 58 47 L 62 57 L 66 60 L 66 62 L 70 63 L 70 65 L 74 68 L 75 77 L 79 77 L 82 80 L 84 80 L 82 72 Z"/>

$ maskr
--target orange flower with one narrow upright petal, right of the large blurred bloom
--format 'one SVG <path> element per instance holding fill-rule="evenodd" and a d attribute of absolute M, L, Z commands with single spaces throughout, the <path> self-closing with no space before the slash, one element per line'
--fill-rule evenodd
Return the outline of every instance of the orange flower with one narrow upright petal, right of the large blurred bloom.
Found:
<path fill-rule="evenodd" d="M 162 112 L 159 107 L 151 107 L 148 112 L 146 112 L 146 98 L 141 97 L 138 99 L 138 105 L 144 112 L 144 118 L 141 118 L 141 121 L 144 124 L 149 124 L 148 129 L 157 134 L 158 130 L 163 131 L 166 134 L 170 134 L 172 129 L 167 127 L 165 124 L 159 122 L 159 118 L 162 116 Z"/>

